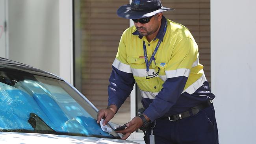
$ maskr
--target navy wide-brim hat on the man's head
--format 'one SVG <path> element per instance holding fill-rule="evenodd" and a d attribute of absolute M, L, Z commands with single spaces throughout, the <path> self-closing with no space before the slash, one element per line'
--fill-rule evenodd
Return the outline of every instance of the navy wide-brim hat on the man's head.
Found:
<path fill-rule="evenodd" d="M 122 18 L 140 19 L 168 10 L 174 9 L 163 7 L 160 0 L 132 0 L 132 4 L 119 7 L 117 15 Z"/>

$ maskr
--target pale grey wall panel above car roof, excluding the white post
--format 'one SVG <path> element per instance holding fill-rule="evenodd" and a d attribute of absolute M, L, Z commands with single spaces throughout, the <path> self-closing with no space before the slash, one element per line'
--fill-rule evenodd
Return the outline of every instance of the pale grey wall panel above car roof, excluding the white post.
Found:
<path fill-rule="evenodd" d="M 8 5 L 9 59 L 59 75 L 59 1 L 8 0 Z"/>

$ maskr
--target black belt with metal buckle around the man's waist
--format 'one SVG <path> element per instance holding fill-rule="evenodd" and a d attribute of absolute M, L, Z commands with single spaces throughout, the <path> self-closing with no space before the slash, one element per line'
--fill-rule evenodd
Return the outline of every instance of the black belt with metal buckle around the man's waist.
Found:
<path fill-rule="evenodd" d="M 208 100 L 204 103 L 200 103 L 199 105 L 190 108 L 191 112 L 193 115 L 197 114 L 199 111 L 201 111 L 202 109 L 205 109 L 206 107 L 209 107 L 212 104 L 211 100 Z M 174 114 L 172 116 L 168 116 L 165 118 L 160 118 L 161 120 L 170 120 L 170 121 L 175 121 L 175 120 L 180 120 L 182 118 L 186 118 L 191 116 L 191 114 L 189 113 L 189 111 L 184 111 L 183 113 L 179 113 L 179 114 Z"/>

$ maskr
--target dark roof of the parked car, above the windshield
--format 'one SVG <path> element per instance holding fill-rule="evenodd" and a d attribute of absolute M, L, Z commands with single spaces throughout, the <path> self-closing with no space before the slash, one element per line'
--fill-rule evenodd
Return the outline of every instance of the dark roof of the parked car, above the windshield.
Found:
<path fill-rule="evenodd" d="M 0 69 L 2 68 L 8 69 L 8 70 L 14 70 L 18 72 L 30 73 L 30 74 L 39 75 L 39 76 L 46 76 L 49 78 L 54 78 L 54 79 L 59 79 L 64 81 L 63 79 L 49 72 L 40 70 L 38 68 L 34 68 L 33 66 L 25 65 L 23 63 L 19 63 L 17 61 L 12 61 L 12 60 L 0 57 Z"/>

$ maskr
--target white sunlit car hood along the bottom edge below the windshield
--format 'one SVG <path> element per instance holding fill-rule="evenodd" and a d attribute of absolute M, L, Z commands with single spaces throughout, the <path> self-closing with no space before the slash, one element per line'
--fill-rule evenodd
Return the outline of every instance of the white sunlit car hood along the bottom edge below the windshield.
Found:
<path fill-rule="evenodd" d="M 40 133 L 0 132 L 0 144 L 138 144 L 128 140 Z"/>

